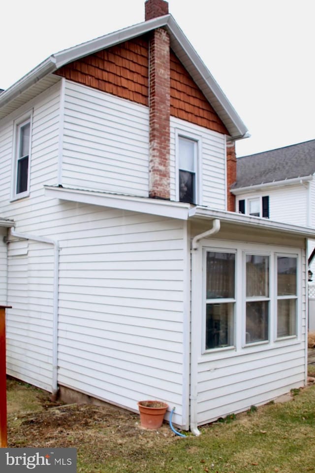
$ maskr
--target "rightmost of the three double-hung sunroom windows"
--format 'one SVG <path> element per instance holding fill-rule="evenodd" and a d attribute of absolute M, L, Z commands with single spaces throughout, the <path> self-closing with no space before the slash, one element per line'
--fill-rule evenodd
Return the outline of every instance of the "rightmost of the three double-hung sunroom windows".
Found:
<path fill-rule="evenodd" d="M 297 333 L 297 258 L 277 256 L 277 337 Z"/>

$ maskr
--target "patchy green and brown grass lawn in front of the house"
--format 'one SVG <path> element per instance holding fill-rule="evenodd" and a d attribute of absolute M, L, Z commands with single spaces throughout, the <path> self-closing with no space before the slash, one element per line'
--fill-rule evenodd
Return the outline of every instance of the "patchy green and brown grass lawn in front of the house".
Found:
<path fill-rule="evenodd" d="M 185 439 L 167 424 L 144 431 L 137 414 L 114 407 L 49 410 L 40 390 L 25 390 L 26 396 L 18 383 L 8 391 L 9 446 L 76 447 L 78 473 L 315 472 L 315 386 L 295 392 L 290 402 L 252 406 Z M 27 409 L 19 410 L 23 402 Z"/>

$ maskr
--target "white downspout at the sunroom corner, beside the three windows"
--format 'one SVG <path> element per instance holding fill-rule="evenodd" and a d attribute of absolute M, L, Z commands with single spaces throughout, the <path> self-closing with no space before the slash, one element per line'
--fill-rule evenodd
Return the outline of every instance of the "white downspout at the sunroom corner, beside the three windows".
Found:
<path fill-rule="evenodd" d="M 190 431 L 198 436 L 197 423 L 197 368 L 200 353 L 200 281 L 201 268 L 198 267 L 199 241 L 207 236 L 213 236 L 220 231 L 220 220 L 213 221 L 212 228 L 193 237 L 191 242 L 191 349 L 190 349 Z M 199 277 L 197 277 L 197 275 Z"/>

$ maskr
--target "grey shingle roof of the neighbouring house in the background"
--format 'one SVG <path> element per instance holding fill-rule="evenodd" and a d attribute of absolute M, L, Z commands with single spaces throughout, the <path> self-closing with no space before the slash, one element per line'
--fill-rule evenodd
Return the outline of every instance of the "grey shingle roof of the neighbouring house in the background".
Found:
<path fill-rule="evenodd" d="M 237 177 L 232 189 L 288 181 L 314 173 L 315 139 L 311 139 L 237 158 Z"/>

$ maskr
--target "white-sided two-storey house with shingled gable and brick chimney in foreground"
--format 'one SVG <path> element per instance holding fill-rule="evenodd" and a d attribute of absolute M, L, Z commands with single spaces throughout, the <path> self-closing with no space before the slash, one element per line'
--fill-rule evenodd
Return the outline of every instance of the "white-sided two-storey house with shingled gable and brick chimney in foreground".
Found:
<path fill-rule="evenodd" d="M 197 434 L 304 385 L 315 231 L 233 211 L 247 129 L 167 2 L 145 6 L 0 95 L 7 372 L 157 398 Z"/>

